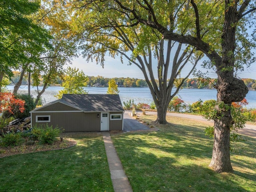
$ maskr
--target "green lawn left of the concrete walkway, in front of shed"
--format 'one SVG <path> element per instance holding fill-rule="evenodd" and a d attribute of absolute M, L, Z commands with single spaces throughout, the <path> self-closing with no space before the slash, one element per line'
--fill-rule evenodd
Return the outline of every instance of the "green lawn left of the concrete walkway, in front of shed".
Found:
<path fill-rule="evenodd" d="M 0 158 L 0 191 L 114 192 L 102 135 L 70 137 L 68 149 Z"/>

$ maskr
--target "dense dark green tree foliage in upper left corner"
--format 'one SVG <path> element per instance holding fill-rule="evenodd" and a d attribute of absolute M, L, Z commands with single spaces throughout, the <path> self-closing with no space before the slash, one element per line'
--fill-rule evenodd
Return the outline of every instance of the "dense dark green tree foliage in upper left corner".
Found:
<path fill-rule="evenodd" d="M 48 30 L 31 18 L 39 8 L 38 1 L 0 1 L 0 82 L 4 74 L 12 76 L 12 68 L 38 62 L 34 54 L 50 46 Z"/>

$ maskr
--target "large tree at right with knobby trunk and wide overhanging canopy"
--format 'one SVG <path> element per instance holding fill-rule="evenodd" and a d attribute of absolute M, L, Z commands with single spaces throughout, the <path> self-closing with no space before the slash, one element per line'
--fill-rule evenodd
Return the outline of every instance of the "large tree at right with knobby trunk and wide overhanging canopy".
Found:
<path fill-rule="evenodd" d="M 89 15 L 87 22 L 81 22 L 82 17 L 75 14 L 76 18 L 79 18 L 78 26 L 86 23 L 92 29 L 87 33 L 89 40 L 94 29 L 106 29 L 97 34 L 98 46 L 86 44 L 86 50 L 94 48 L 101 50 L 96 55 L 96 59 L 101 63 L 104 60 L 99 60 L 98 56 L 102 56 L 104 48 L 112 47 L 120 50 L 119 53 L 125 52 L 127 49 L 119 45 L 122 45 L 122 41 L 127 42 L 128 37 L 142 38 L 142 46 L 140 43 L 138 43 L 138 48 L 137 46 L 134 48 L 134 44 L 129 45 L 134 49 L 132 50 L 133 57 L 137 58 L 140 53 L 150 55 L 148 46 L 154 46 L 155 44 L 151 42 L 160 39 L 160 35 L 149 35 L 152 31 L 154 34 L 159 32 L 162 35 L 161 40 L 166 39 L 169 43 L 175 41 L 190 45 L 192 47 L 188 46 L 190 48 L 188 51 L 198 50 L 210 59 L 210 62 L 205 62 L 205 66 L 215 68 L 218 76 L 215 84 L 218 118 L 214 118 L 214 147 L 210 167 L 216 172 L 233 172 L 229 151 L 230 128 L 233 123 L 230 107 L 232 102 L 241 101 L 248 92 L 244 82 L 235 78 L 234 74 L 236 69 L 243 68 L 244 65 L 248 66 L 255 60 L 251 52 L 255 47 L 255 37 L 249 37 L 246 26 L 255 24 L 256 2 L 254 0 L 78 0 L 74 4 L 76 8 L 80 8 Z M 92 17 L 94 20 L 90 15 L 94 16 Z M 120 28 L 123 30 L 119 31 Z M 136 35 L 127 33 L 126 30 L 133 30 Z M 112 32 L 114 34 L 110 35 Z M 128 35 L 119 38 L 123 34 Z M 140 36 L 141 34 L 143 35 Z M 105 46 L 105 38 L 108 38 L 109 46 Z M 161 40 L 157 42 L 160 43 Z M 144 46 L 146 41 L 148 41 L 148 46 Z M 115 42 L 119 43 L 115 44 Z M 161 44 L 158 45 L 161 48 Z M 168 44 L 167 48 L 171 48 L 171 45 Z M 111 50 L 109 52 L 113 54 Z M 158 57 L 158 52 L 155 55 L 158 61 L 163 59 L 163 57 Z M 89 58 L 91 57 L 92 54 L 89 54 Z M 175 66 L 175 63 L 173 65 Z M 143 66 L 138 67 L 144 70 Z M 166 62 L 160 62 L 159 77 L 165 78 L 166 74 L 162 73 L 164 67 L 166 67 Z M 152 75 L 150 71 L 149 74 Z M 175 73 L 174 77 L 177 75 Z M 147 80 L 145 74 L 144 76 Z M 153 81 L 152 85 L 154 85 Z M 160 89 L 166 87 L 162 78 L 159 78 L 159 85 Z M 152 96 L 157 92 L 155 89 L 150 90 L 152 90 Z M 156 106 L 161 95 L 169 97 L 168 92 L 161 92 L 159 96 L 156 96 L 157 99 L 153 97 Z"/>

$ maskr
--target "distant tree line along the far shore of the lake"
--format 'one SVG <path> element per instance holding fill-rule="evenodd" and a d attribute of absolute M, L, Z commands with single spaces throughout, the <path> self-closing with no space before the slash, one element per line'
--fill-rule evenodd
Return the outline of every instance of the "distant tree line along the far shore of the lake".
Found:
<path fill-rule="evenodd" d="M 14 71 L 14 76 L 12 77 L 12 82 L 16 83 L 18 82 L 19 74 L 20 72 Z M 57 77 L 56 84 L 55 85 L 61 85 L 63 82 L 63 77 Z M 88 76 L 87 80 L 87 86 L 102 86 L 107 87 L 108 82 L 110 80 L 114 79 L 116 81 L 116 84 L 119 87 L 148 87 L 148 84 L 144 79 L 138 79 L 138 78 L 130 78 L 130 77 L 121 77 L 121 78 L 105 78 L 103 76 Z M 177 79 L 174 83 L 175 86 L 178 86 L 178 83 L 181 82 L 182 79 Z M 242 78 L 244 81 L 244 84 L 251 89 L 256 90 L 256 80 L 251 78 Z M 27 77 L 23 79 L 22 84 L 27 84 Z M 43 82 L 43 78 L 40 78 L 40 81 Z M 156 81 L 158 83 L 158 81 Z M 188 78 L 184 81 L 182 84 L 182 88 L 195 88 L 195 89 L 214 89 L 214 84 L 216 82 L 216 79 L 210 79 L 208 81 L 201 80 L 200 78 Z"/>

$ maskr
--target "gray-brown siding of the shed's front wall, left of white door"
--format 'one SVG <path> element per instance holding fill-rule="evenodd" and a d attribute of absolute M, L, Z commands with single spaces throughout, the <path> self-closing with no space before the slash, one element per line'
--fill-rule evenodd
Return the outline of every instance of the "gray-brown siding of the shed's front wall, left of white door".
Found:
<path fill-rule="evenodd" d="M 36 123 L 36 116 L 38 115 L 50 115 L 50 122 L 47 124 L 64 128 L 64 132 L 100 131 L 100 118 L 97 117 L 97 112 L 32 112 L 32 126 L 46 124 Z"/>

